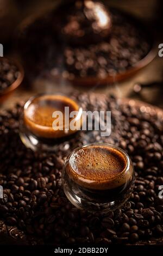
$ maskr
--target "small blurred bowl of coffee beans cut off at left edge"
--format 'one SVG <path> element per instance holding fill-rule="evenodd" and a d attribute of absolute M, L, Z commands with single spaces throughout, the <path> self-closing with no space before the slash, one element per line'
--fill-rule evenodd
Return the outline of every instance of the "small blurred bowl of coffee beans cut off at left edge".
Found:
<path fill-rule="evenodd" d="M 24 70 L 17 60 L 0 57 L 0 103 L 23 81 Z"/>

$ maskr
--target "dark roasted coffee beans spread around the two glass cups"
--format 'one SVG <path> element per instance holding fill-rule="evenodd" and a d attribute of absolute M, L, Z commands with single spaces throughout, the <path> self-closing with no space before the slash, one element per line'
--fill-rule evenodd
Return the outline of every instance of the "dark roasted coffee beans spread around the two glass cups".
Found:
<path fill-rule="evenodd" d="M 22 106 L 0 115 L 0 216 L 35 244 L 159 243 L 163 236 L 163 117 L 154 109 L 98 94 L 75 96 L 84 109 L 112 114 L 110 137 L 100 131 L 79 131 L 58 144 L 54 153 L 33 152 L 18 135 Z M 90 213 L 75 208 L 62 190 L 64 160 L 72 149 L 88 142 L 120 146 L 136 172 L 134 191 L 121 209 Z"/>

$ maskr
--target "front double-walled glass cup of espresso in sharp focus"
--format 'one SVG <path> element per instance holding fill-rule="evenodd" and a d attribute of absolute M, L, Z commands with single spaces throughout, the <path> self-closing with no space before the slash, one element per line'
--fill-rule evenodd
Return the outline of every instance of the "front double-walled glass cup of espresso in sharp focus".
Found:
<path fill-rule="evenodd" d="M 67 157 L 62 184 L 70 202 L 80 209 L 120 208 L 133 191 L 135 173 L 128 154 L 111 144 L 83 145 Z"/>

